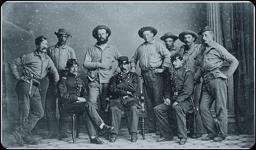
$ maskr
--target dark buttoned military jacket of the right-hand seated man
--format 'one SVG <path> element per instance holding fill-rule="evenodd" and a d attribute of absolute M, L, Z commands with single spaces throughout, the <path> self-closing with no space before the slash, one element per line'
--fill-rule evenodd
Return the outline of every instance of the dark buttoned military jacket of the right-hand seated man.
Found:
<path fill-rule="evenodd" d="M 174 102 L 191 101 L 191 94 L 194 89 L 194 73 L 192 70 L 181 66 L 175 70 L 170 77 L 165 98 Z"/>

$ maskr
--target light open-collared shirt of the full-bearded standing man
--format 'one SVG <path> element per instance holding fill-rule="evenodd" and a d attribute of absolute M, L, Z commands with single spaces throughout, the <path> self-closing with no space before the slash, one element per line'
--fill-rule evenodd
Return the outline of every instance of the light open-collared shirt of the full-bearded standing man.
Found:
<path fill-rule="evenodd" d="M 95 44 L 90 46 L 85 54 L 84 68 L 88 69 L 87 77 L 90 81 L 94 81 L 99 74 L 100 83 L 109 83 L 110 78 L 113 76 L 112 65 L 113 62 L 122 56 L 118 48 L 107 43 L 106 48 L 103 50 Z M 100 65 L 101 63 L 101 65 Z M 115 72 L 120 72 L 117 67 Z"/>

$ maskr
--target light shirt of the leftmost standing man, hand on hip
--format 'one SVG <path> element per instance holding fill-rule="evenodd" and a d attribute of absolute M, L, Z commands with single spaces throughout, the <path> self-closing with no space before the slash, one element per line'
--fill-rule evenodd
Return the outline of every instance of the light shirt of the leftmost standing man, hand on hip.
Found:
<path fill-rule="evenodd" d="M 37 50 L 9 62 L 10 71 L 16 80 L 20 77 L 17 70 L 18 66 L 23 67 L 22 76 L 27 76 L 30 79 L 31 74 L 33 74 L 33 80 L 39 84 L 39 80 L 44 78 L 48 72 L 51 72 L 55 83 L 59 81 L 59 74 L 51 58 L 46 54 L 39 55 Z"/>

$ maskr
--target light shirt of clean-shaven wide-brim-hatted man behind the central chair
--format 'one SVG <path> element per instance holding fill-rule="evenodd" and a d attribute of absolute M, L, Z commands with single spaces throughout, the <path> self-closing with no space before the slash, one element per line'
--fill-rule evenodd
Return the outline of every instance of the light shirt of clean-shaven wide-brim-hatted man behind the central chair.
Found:
<path fill-rule="evenodd" d="M 138 46 L 131 59 L 131 67 L 136 67 L 139 60 L 139 68 L 152 69 L 152 68 L 169 68 L 171 64 L 171 53 L 160 42 L 153 40 L 150 43 L 142 43 Z"/>

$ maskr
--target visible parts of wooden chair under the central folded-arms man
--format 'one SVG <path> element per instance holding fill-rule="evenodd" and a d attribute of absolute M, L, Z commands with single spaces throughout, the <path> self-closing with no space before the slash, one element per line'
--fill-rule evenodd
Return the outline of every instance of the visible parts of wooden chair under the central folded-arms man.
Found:
<path fill-rule="evenodd" d="M 138 74 L 137 74 L 138 75 Z M 135 95 L 138 97 L 139 99 L 139 103 L 141 104 L 141 109 L 139 109 L 139 112 L 138 112 L 138 117 L 142 119 L 142 127 L 141 127 L 141 134 L 142 134 L 142 138 L 143 140 L 145 140 L 145 128 L 144 128 L 144 123 L 145 123 L 145 120 L 144 120 L 144 117 L 146 117 L 146 113 L 145 113 L 145 101 L 144 101 L 144 93 L 143 93 L 143 77 L 138 75 L 139 76 L 139 91 L 137 91 L 135 93 Z M 106 98 L 106 101 L 107 101 L 107 108 L 105 109 L 105 113 L 108 114 L 108 108 L 109 108 L 109 105 L 110 105 L 110 100 L 111 100 L 112 96 L 110 97 L 107 97 Z M 124 116 L 124 112 L 123 112 L 123 115 L 122 115 L 122 118 L 125 117 Z M 109 135 L 108 135 L 109 137 Z"/>

